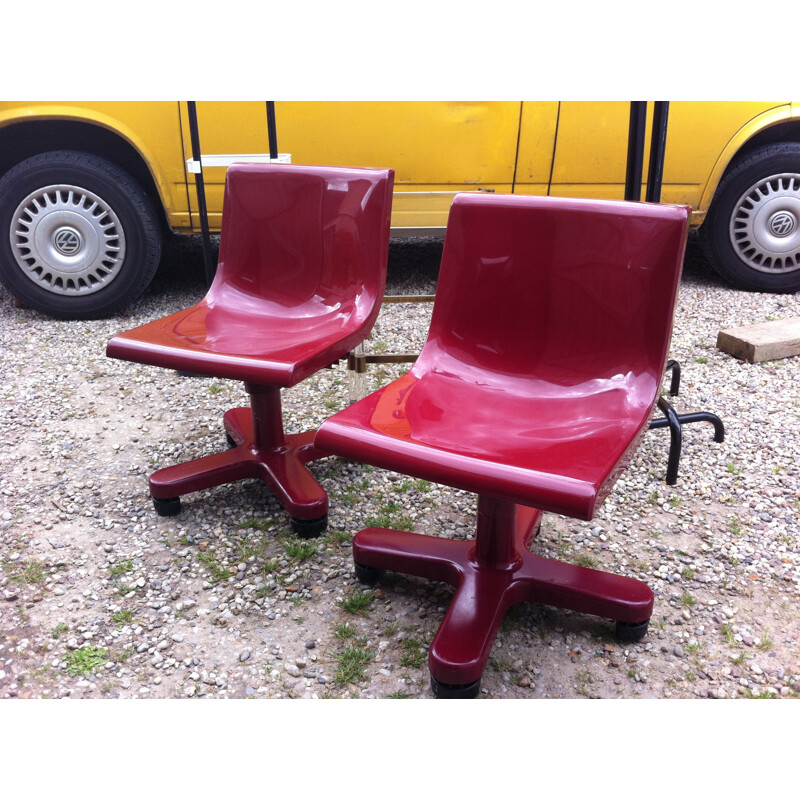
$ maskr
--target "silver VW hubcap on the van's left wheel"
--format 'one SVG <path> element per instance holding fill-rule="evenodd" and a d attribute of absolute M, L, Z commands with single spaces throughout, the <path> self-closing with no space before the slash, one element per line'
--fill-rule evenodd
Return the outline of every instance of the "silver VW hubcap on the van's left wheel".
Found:
<path fill-rule="evenodd" d="M 86 295 L 107 286 L 125 258 L 125 235 L 102 198 L 78 186 L 46 186 L 29 194 L 11 219 L 14 258 L 37 286 Z"/>

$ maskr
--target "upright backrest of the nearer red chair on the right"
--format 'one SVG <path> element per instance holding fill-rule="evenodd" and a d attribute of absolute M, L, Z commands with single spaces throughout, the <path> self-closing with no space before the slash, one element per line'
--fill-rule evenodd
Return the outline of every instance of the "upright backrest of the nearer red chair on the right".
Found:
<path fill-rule="evenodd" d="M 448 370 L 455 360 L 465 377 L 477 370 L 572 386 L 646 373 L 660 385 L 688 212 L 457 195 L 415 369 Z"/>

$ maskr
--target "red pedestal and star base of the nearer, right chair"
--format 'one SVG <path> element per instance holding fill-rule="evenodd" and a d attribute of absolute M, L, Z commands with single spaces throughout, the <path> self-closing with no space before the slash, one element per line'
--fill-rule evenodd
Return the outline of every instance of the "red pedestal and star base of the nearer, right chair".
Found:
<path fill-rule="evenodd" d="M 617 638 L 647 632 L 653 592 L 633 578 L 553 561 L 530 552 L 542 512 L 507 500 L 478 498 L 474 540 L 367 528 L 353 540 L 356 576 L 372 584 L 388 569 L 456 587 L 430 647 L 437 697 L 474 697 L 508 608 L 531 601 L 616 621 Z"/>

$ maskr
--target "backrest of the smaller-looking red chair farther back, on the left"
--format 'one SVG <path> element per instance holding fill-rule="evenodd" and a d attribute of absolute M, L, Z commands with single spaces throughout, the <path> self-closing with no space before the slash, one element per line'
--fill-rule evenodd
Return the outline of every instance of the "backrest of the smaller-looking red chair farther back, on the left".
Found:
<path fill-rule="evenodd" d="M 371 326 L 386 284 L 393 183 L 390 169 L 233 164 L 208 303 L 287 321 L 352 310 Z"/>

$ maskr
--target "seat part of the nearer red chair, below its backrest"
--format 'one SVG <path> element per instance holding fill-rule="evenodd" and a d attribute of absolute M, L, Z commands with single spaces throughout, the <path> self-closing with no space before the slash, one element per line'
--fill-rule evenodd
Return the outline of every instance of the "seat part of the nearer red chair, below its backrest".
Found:
<path fill-rule="evenodd" d="M 421 374 L 420 374 L 421 373 Z M 415 367 L 323 423 L 316 445 L 459 489 L 591 519 L 646 430 L 652 376 L 476 383 Z"/>

